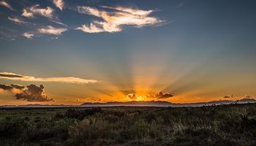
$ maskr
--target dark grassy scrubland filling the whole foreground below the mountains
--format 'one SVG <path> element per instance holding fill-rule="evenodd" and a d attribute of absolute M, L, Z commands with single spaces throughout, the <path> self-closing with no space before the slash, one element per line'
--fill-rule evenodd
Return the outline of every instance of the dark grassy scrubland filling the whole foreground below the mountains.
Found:
<path fill-rule="evenodd" d="M 256 145 L 256 104 L 1 109 L 0 145 Z"/>

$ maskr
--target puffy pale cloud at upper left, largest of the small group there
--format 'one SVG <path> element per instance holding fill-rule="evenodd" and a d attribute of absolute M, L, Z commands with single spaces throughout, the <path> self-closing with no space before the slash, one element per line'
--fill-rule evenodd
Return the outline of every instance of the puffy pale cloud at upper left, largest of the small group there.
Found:
<path fill-rule="evenodd" d="M 45 9 L 39 8 L 39 4 L 32 7 L 23 9 L 22 15 L 26 18 L 34 18 L 35 15 L 42 15 L 46 18 L 53 18 L 54 9 L 51 7 L 46 7 Z"/>

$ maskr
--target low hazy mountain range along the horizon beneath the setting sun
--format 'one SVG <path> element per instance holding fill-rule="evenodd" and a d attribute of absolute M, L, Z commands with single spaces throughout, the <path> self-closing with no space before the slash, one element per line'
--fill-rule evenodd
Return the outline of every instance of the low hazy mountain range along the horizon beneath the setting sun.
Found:
<path fill-rule="evenodd" d="M 211 105 L 222 105 L 222 104 L 247 104 L 247 103 L 256 103 L 255 99 L 240 99 L 236 101 L 232 100 L 219 100 L 219 101 L 209 101 L 209 102 L 198 102 L 198 103 L 189 103 L 189 104 L 175 104 L 168 101 L 127 101 L 127 102 L 106 102 L 106 103 L 91 103 L 86 102 L 80 105 L 63 105 L 63 104 L 26 104 L 26 105 L 6 105 L 0 107 L 120 107 L 120 106 L 129 106 L 129 107 L 202 107 L 202 106 L 211 106 Z"/>

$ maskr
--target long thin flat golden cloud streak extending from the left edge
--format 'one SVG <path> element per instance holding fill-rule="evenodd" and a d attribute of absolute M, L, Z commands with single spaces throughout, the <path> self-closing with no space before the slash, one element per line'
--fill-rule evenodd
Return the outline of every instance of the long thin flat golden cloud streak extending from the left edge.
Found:
<path fill-rule="evenodd" d="M 98 80 L 86 80 L 79 77 L 33 77 L 24 76 L 20 74 L 13 74 L 11 72 L 0 72 L 0 79 L 20 80 L 27 82 L 66 82 L 73 84 L 89 84 L 99 82 Z"/>

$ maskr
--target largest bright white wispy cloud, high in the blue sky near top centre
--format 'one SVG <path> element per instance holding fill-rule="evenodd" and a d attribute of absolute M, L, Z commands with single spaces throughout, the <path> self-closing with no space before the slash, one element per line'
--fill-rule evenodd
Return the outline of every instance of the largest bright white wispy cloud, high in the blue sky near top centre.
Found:
<path fill-rule="evenodd" d="M 86 33 L 99 33 L 99 32 L 118 32 L 122 31 L 121 26 L 135 26 L 143 27 L 161 23 L 155 17 L 149 17 L 154 10 L 134 9 L 129 7 L 102 7 L 111 9 L 112 11 L 99 10 L 93 7 L 78 6 L 78 12 L 94 15 L 102 18 L 102 21 L 94 20 L 89 25 L 82 25 L 77 27 L 77 30 Z"/>

